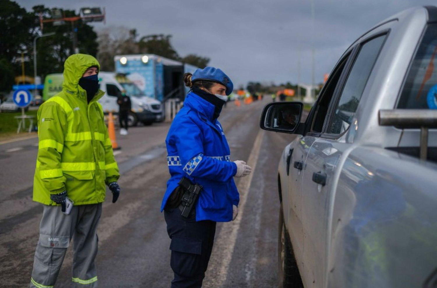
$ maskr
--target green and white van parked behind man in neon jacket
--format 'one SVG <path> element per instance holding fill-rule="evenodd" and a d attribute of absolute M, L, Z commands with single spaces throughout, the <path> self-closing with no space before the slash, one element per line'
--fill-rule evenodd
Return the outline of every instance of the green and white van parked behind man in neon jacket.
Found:
<path fill-rule="evenodd" d="M 62 90 L 62 80 L 62 73 L 49 74 L 45 77 L 44 100 Z M 117 97 L 121 94 L 121 91 L 125 91 L 131 97 L 132 110 L 129 112 L 129 126 L 135 126 L 138 122 L 142 122 L 144 125 L 151 125 L 153 122 L 164 120 L 161 102 L 144 95 L 132 81 L 126 78 L 125 74 L 99 72 L 99 88 L 106 91 L 99 100 L 105 114 L 109 112 L 118 113 Z M 50 95 L 49 91 L 52 90 L 54 94 Z M 45 93 L 45 91 L 48 92 Z"/>

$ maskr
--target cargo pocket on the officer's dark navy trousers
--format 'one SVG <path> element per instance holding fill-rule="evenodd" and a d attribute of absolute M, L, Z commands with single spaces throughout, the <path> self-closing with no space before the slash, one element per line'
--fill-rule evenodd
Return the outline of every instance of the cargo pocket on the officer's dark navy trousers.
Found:
<path fill-rule="evenodd" d="M 202 273 L 202 240 L 173 236 L 170 243 L 170 266 L 173 272 L 192 277 Z"/>

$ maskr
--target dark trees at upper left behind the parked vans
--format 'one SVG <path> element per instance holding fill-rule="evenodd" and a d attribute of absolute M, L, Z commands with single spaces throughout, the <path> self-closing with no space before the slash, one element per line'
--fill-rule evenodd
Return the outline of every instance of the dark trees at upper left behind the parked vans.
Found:
<path fill-rule="evenodd" d="M 42 33 L 55 35 L 38 39 L 37 75 L 43 80 L 49 73 L 62 73 L 63 63 L 73 54 L 73 29 L 76 29 L 77 48 L 80 53 L 95 56 L 101 63 L 101 70 L 114 70 L 114 56 L 117 54 L 157 54 L 166 58 L 204 68 L 210 61 L 207 57 L 189 54 L 180 56 L 171 45 L 171 35 L 146 35 L 139 37 L 136 29 L 103 29 L 98 34 L 94 27 L 81 19 L 56 25 L 44 23 L 40 27 L 39 15 L 51 18 L 52 8 L 44 5 L 27 11 L 18 3 L 2 0 L 0 9 L 0 92 L 7 92 L 15 84 L 15 76 L 22 74 L 24 59 L 25 75 L 33 76 L 33 40 Z M 79 16 L 75 10 L 62 10 L 63 17 Z M 117 33 L 114 33 L 116 30 Z M 122 32 L 119 34 L 118 32 Z"/>

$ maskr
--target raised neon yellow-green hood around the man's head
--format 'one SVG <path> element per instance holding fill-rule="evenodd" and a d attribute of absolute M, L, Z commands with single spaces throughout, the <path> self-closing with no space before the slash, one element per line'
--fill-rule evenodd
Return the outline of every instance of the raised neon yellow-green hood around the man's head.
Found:
<path fill-rule="evenodd" d="M 83 73 L 91 66 L 97 66 L 100 71 L 99 62 L 91 55 L 73 54 L 69 56 L 64 63 L 64 82 L 62 82 L 62 88 L 78 93 L 79 80 L 82 78 Z M 80 90 L 83 91 L 82 88 Z"/>

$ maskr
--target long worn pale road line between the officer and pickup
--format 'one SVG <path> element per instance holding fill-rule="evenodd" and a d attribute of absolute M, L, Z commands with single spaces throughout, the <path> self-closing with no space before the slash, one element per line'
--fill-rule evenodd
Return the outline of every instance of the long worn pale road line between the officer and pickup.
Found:
<path fill-rule="evenodd" d="M 258 156 L 260 155 L 261 142 L 264 136 L 264 130 L 258 132 L 257 138 L 253 144 L 252 151 L 250 151 L 247 165 L 252 167 L 252 173 L 247 177 L 243 177 L 238 183 L 238 191 L 240 194 L 240 202 L 238 205 L 237 218 L 229 223 L 225 223 L 220 230 L 220 234 L 215 239 L 214 250 L 220 251 L 222 256 L 217 263 L 218 273 L 215 275 L 215 279 L 212 281 L 212 287 L 223 287 L 226 278 L 228 278 L 229 264 L 234 254 L 235 243 L 240 229 L 241 219 L 243 219 L 244 206 L 246 206 L 247 194 L 249 193 L 250 184 L 252 182 L 253 173 L 255 171 Z"/>

